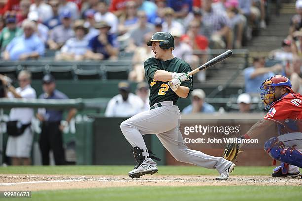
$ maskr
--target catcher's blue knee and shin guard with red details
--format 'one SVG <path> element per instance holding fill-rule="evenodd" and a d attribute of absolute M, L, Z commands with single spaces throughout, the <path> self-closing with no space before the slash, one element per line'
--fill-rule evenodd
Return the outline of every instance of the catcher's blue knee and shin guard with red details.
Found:
<path fill-rule="evenodd" d="M 277 137 L 272 137 L 265 142 L 264 150 L 273 159 L 302 168 L 302 152 L 293 147 L 286 148 Z"/>

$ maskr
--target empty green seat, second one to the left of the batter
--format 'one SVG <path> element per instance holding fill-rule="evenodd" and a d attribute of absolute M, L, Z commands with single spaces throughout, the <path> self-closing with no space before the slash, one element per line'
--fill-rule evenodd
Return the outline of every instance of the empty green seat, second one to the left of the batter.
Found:
<path fill-rule="evenodd" d="M 79 62 L 75 69 L 77 79 L 99 79 L 100 63 L 99 62 Z"/>

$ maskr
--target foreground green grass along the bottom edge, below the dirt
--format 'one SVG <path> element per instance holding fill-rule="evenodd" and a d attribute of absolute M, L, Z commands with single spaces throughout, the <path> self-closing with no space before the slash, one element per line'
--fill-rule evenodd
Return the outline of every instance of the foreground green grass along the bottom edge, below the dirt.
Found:
<path fill-rule="evenodd" d="M 278 193 L 279 192 L 279 193 Z M 280 193 L 282 192 L 282 194 Z M 185 186 L 113 187 L 38 191 L 33 201 L 297 201 L 299 186 Z M 13 199 L 9 199 L 12 201 Z M 17 200 L 17 199 L 15 199 Z M 19 199 L 20 200 L 20 199 Z"/>

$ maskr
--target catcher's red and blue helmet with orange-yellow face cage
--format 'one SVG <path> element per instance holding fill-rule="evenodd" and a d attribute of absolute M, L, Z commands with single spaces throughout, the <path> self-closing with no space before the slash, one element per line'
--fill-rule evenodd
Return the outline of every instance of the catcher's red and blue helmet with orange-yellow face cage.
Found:
<path fill-rule="evenodd" d="M 260 89 L 263 91 L 260 94 L 260 96 L 266 106 L 266 109 L 269 109 L 271 104 L 274 101 L 276 101 L 275 100 L 275 91 L 276 91 L 275 87 L 276 86 L 284 86 L 290 92 L 293 92 L 292 83 L 285 76 L 277 75 L 277 76 L 271 77 L 270 79 L 264 80 L 264 82 L 262 82 L 262 84 L 260 86 Z"/>

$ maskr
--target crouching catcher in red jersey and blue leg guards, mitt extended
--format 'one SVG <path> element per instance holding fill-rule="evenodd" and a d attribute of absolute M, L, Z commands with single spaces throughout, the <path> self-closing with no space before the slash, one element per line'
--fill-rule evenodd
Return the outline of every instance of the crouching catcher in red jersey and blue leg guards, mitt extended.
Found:
<path fill-rule="evenodd" d="M 241 139 L 254 138 L 259 134 L 276 131 L 264 144 L 269 156 L 281 161 L 274 169 L 273 177 L 298 177 L 302 168 L 302 96 L 292 90 L 291 81 L 284 76 L 273 76 L 265 80 L 260 89 L 261 99 L 270 109 L 264 119 L 254 124 Z M 228 143 L 224 158 L 235 161 L 243 143 Z"/>

